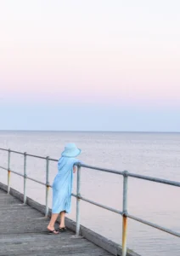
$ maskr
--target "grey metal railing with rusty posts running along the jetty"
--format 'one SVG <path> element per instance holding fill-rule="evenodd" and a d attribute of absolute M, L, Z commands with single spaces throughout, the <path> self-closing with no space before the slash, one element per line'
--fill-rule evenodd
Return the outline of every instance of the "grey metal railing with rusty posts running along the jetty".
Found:
<path fill-rule="evenodd" d="M 35 154 L 26 154 L 26 153 L 21 153 L 18 151 L 14 151 L 11 149 L 5 149 L 5 148 L 0 148 L 0 150 L 3 151 L 7 151 L 8 152 L 8 168 L 0 166 L 1 169 L 3 170 L 7 170 L 8 171 L 8 194 L 10 191 L 10 173 L 13 172 L 21 177 L 24 177 L 24 204 L 26 203 L 26 180 L 30 179 L 31 181 L 34 181 L 36 183 L 40 183 L 42 185 L 46 186 L 46 209 L 45 209 L 45 217 L 48 217 L 48 198 L 49 198 L 49 188 L 52 188 L 52 186 L 49 183 L 49 161 L 55 161 L 58 162 L 59 160 L 56 159 L 52 159 L 47 157 L 42 157 L 42 156 L 38 156 Z M 19 172 L 14 172 L 13 170 L 10 169 L 10 156 L 11 153 L 15 153 L 15 154 L 22 154 L 24 155 L 24 175 L 19 173 Z M 46 183 L 42 183 L 41 181 L 38 181 L 32 177 L 28 177 L 26 174 L 26 158 L 27 156 L 31 156 L 31 157 L 35 157 L 35 158 L 39 158 L 42 160 L 46 160 Z M 149 225 L 155 229 L 158 230 L 162 230 L 166 233 L 169 233 L 173 236 L 177 236 L 180 237 L 180 233 L 174 231 L 174 230 L 169 230 L 166 229 L 165 227 L 161 227 L 158 224 L 154 224 L 151 223 L 149 221 L 143 220 L 142 218 L 138 218 L 136 216 L 133 216 L 131 214 L 129 214 L 127 212 L 127 184 L 128 184 L 128 178 L 129 177 L 135 177 L 138 179 L 143 179 L 143 180 L 148 180 L 151 182 L 155 182 L 155 183 L 164 183 L 167 185 L 172 185 L 172 186 L 176 186 L 176 187 L 180 187 L 180 183 L 179 182 L 175 182 L 175 181 L 170 181 L 170 180 L 166 180 L 166 179 L 161 179 L 161 178 L 157 178 L 157 177 L 149 177 L 149 176 L 143 176 L 143 175 L 139 175 L 139 174 L 134 174 L 134 173 L 130 173 L 127 171 L 124 172 L 119 172 L 119 171 L 115 171 L 115 170 L 110 170 L 110 169 L 105 169 L 105 168 L 99 168 L 99 167 L 95 167 L 95 166 L 87 166 L 84 164 L 77 164 L 77 184 L 76 184 L 76 195 L 72 193 L 72 196 L 76 197 L 76 236 L 79 236 L 80 233 L 80 201 L 87 201 L 90 204 L 93 204 L 97 207 L 102 207 L 106 210 L 109 210 L 110 212 L 115 212 L 117 214 L 120 214 L 122 216 L 122 256 L 126 256 L 127 255 L 127 218 L 132 218 L 140 223 Z M 80 189 L 80 183 L 81 183 L 81 168 L 87 168 L 87 169 L 93 169 L 93 170 L 97 170 L 97 171 L 102 171 L 102 172 L 110 172 L 110 173 L 114 173 L 117 175 L 121 175 L 123 176 L 123 204 L 122 204 L 122 211 L 116 210 L 114 208 L 111 207 L 106 207 L 102 204 L 99 204 L 95 201 L 91 201 L 88 200 L 87 198 L 82 197 L 81 195 L 81 189 Z"/>

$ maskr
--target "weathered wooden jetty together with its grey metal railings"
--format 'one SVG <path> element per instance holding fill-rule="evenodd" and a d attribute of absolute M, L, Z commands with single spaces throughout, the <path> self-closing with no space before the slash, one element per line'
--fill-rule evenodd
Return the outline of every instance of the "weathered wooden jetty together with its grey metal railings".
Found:
<path fill-rule="evenodd" d="M 76 223 L 69 218 L 65 219 L 68 231 L 59 236 L 49 236 L 47 234 L 48 217 L 51 210 L 48 208 L 49 188 L 49 161 L 58 162 L 57 159 L 27 154 L 7 148 L 0 148 L 0 151 L 7 152 L 8 166 L 0 166 L 3 171 L 8 171 L 8 185 L 0 182 L 0 256 L 11 255 L 115 255 L 115 256 L 140 256 L 127 248 L 127 219 L 131 218 L 139 223 L 149 225 L 157 230 L 162 230 L 172 236 L 180 237 L 180 233 L 167 229 L 159 224 L 155 224 L 133 216 L 127 210 L 127 184 L 128 178 L 134 177 L 147 180 L 153 183 L 164 183 L 180 188 L 177 181 L 166 180 L 157 177 L 143 176 L 127 171 L 116 171 L 85 164 L 77 165 L 76 194 Z M 11 170 L 11 154 L 24 156 L 24 174 Z M 33 157 L 46 161 L 46 183 L 29 177 L 26 173 L 26 158 Z M 123 176 L 123 206 L 122 211 L 104 206 L 96 201 L 84 198 L 81 195 L 81 168 L 93 169 L 100 172 L 109 172 Z M 24 195 L 14 190 L 10 186 L 11 172 L 24 178 Z M 26 196 L 26 180 L 30 179 L 40 183 L 46 188 L 46 205 L 43 206 Z M 7 193 L 8 192 L 8 193 Z M 80 221 L 80 201 L 87 201 L 97 207 L 102 207 L 110 212 L 115 212 L 122 216 L 122 241 L 121 245 L 110 241 L 104 236 L 100 236 L 93 230 L 89 230 L 81 225 Z M 45 215 L 45 217 L 44 217 Z M 75 235 L 76 231 L 76 235 Z"/>

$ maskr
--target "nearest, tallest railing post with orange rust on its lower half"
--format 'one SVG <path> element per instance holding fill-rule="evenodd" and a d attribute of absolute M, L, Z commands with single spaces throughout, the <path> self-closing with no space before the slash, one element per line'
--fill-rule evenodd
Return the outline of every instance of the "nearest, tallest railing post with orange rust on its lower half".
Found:
<path fill-rule="evenodd" d="M 127 181 L 128 172 L 123 173 L 123 211 L 122 211 L 122 254 L 127 255 Z"/>

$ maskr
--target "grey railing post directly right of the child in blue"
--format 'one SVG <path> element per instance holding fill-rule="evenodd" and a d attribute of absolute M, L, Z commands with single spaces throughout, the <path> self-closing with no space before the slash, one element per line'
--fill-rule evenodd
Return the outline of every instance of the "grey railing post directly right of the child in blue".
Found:
<path fill-rule="evenodd" d="M 76 236 L 80 233 L 80 183 L 81 183 L 81 166 L 77 166 L 77 187 L 76 187 Z"/>

